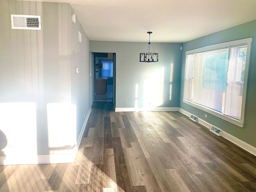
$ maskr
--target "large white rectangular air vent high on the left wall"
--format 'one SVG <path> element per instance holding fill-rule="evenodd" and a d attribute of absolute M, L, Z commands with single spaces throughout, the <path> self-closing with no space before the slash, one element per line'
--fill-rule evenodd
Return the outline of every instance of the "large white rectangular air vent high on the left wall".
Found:
<path fill-rule="evenodd" d="M 11 14 L 12 29 L 41 30 L 41 16 Z"/>

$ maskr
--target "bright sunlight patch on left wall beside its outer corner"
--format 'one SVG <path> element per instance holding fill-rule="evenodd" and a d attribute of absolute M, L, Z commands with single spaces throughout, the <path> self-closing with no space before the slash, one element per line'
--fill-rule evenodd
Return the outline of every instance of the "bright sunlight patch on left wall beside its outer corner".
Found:
<path fill-rule="evenodd" d="M 49 154 L 72 154 L 76 146 L 76 106 L 47 104 Z"/>

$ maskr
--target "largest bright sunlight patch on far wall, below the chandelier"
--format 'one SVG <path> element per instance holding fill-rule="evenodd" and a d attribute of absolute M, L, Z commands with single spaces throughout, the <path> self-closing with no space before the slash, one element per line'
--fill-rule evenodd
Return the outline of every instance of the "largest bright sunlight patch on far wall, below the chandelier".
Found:
<path fill-rule="evenodd" d="M 154 108 L 164 103 L 164 67 L 147 77 L 144 80 L 144 108 Z"/>

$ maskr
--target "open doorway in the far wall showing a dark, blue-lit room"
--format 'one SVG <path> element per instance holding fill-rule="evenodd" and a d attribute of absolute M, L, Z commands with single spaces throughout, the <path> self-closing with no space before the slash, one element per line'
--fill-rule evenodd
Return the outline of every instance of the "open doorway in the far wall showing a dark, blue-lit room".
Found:
<path fill-rule="evenodd" d="M 115 104 L 115 53 L 91 52 L 92 104 L 108 101 Z"/>

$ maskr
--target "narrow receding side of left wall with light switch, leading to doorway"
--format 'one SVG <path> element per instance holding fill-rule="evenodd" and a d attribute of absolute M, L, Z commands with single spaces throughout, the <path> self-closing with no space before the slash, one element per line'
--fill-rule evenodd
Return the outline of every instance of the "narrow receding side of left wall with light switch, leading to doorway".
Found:
<path fill-rule="evenodd" d="M 71 8 L 71 7 L 70 7 Z M 68 23 L 71 24 L 71 12 L 69 9 Z M 78 41 L 78 30 L 82 34 L 82 44 Z M 72 24 L 70 30 L 70 67 L 71 67 L 71 100 L 76 105 L 77 137 L 79 136 L 84 120 L 91 107 L 91 79 L 90 79 L 90 42 L 84 32 L 78 18 L 76 24 Z M 75 73 L 75 68 L 79 73 Z M 85 118 L 84 118 L 85 117 Z"/>

